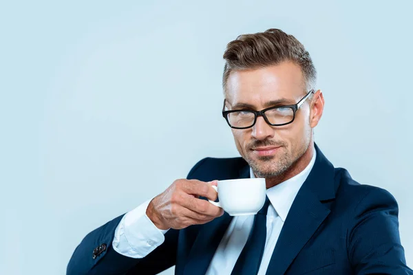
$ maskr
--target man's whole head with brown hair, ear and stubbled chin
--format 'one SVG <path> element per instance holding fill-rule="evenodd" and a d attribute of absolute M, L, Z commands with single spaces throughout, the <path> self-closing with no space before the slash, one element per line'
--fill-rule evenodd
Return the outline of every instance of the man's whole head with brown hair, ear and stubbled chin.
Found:
<path fill-rule="evenodd" d="M 299 165 L 312 145 L 313 128 L 322 115 L 324 98 L 321 91 L 315 91 L 316 70 L 310 54 L 294 36 L 270 29 L 238 36 L 227 45 L 224 59 L 226 110 L 261 111 L 294 105 L 314 91 L 297 111 L 277 108 L 265 112 L 272 124 L 293 120 L 291 123 L 272 126 L 258 115 L 253 126 L 232 129 L 237 149 L 255 175 L 279 177 Z M 246 120 L 247 115 L 251 117 L 243 112 L 231 119 Z"/>

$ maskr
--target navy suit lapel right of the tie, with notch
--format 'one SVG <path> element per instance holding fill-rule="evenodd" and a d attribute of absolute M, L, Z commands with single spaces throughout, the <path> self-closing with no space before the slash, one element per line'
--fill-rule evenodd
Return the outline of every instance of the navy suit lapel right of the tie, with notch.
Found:
<path fill-rule="evenodd" d="M 335 199 L 335 170 L 317 145 L 315 150 L 315 164 L 288 212 L 266 274 L 284 274 L 330 213 L 323 202 Z"/>

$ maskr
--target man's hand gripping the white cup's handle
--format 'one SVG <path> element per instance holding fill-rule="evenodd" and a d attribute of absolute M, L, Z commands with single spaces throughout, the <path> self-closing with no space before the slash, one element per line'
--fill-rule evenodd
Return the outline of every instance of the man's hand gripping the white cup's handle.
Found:
<path fill-rule="evenodd" d="M 146 214 L 153 224 L 162 230 L 208 223 L 222 216 L 224 210 L 199 197 L 215 201 L 218 193 L 211 185 L 217 186 L 217 182 L 177 179 L 167 190 L 151 200 Z"/>

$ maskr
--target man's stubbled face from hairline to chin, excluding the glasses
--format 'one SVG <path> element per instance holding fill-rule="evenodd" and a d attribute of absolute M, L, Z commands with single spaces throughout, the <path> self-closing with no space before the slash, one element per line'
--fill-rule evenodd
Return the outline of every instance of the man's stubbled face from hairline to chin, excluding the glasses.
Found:
<path fill-rule="evenodd" d="M 229 110 L 253 109 L 296 104 L 306 96 L 301 68 L 295 63 L 259 69 L 233 71 L 226 85 L 226 107 Z M 269 102 L 279 100 L 277 104 Z M 312 140 L 310 100 L 295 114 L 295 120 L 284 126 L 271 126 L 259 116 L 248 129 L 232 129 L 240 155 L 257 177 L 276 177 L 295 164 Z M 250 105 L 250 108 L 246 108 Z"/>

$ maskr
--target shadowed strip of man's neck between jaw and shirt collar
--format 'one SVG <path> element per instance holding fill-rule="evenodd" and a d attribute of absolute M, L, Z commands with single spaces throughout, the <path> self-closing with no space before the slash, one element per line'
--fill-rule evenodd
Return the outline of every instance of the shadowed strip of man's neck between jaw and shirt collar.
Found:
<path fill-rule="evenodd" d="M 301 173 L 311 161 L 311 158 L 314 154 L 314 142 L 311 140 L 310 145 L 308 145 L 307 150 L 304 152 L 299 159 L 293 165 L 291 165 L 284 173 L 277 175 L 276 177 L 269 177 L 266 178 L 266 188 L 271 188 L 276 186 L 277 184 L 281 184 L 282 182 L 286 181 Z"/>

